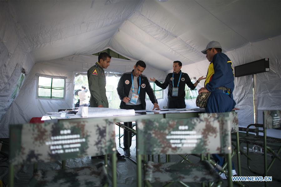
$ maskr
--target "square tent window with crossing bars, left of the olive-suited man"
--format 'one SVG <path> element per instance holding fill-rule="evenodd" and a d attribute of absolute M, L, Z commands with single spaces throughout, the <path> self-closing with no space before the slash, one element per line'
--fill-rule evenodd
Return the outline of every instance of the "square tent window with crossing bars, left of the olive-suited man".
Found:
<path fill-rule="evenodd" d="M 38 76 L 38 98 L 64 99 L 65 79 Z"/>

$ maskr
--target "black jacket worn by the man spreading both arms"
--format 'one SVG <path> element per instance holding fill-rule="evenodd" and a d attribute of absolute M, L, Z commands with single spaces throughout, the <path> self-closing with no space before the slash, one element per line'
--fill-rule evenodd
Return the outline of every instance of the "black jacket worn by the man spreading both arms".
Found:
<path fill-rule="evenodd" d="M 174 86 L 177 87 L 178 86 L 178 78 L 180 76 L 180 72 L 178 73 L 174 73 Z M 195 86 L 194 84 L 191 82 L 189 76 L 187 73 L 182 73 L 181 76 L 181 80 L 179 81 L 179 86 L 178 86 L 178 96 L 172 96 L 172 91 L 173 91 L 173 73 L 169 73 L 166 76 L 166 79 L 164 81 L 164 83 L 160 83 L 159 81 L 155 81 L 155 84 L 157 86 L 159 86 L 162 89 L 166 89 L 167 86 L 169 86 L 169 90 L 168 90 L 168 99 L 184 99 L 185 96 L 185 84 L 191 89 L 194 90 Z"/>

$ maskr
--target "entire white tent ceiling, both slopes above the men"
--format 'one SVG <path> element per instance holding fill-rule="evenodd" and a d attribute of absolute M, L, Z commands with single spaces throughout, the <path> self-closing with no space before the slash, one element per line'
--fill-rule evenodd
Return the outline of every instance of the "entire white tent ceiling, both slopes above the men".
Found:
<path fill-rule="evenodd" d="M 280 1 L 9 1 L 36 62 L 107 47 L 163 71 L 280 35 Z"/>

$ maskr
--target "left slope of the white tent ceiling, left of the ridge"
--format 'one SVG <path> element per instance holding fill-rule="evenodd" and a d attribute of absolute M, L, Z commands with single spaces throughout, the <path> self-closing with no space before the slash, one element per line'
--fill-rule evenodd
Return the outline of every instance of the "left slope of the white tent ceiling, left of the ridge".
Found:
<path fill-rule="evenodd" d="M 32 43 L 30 49 L 36 62 L 103 50 L 118 27 L 139 4 L 138 1 L 9 3 Z"/>

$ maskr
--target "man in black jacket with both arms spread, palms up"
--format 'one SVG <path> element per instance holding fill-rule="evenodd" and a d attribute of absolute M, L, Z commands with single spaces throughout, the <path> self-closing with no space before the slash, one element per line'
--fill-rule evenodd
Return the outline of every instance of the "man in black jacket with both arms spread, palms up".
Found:
<path fill-rule="evenodd" d="M 182 62 L 174 61 L 173 62 L 173 73 L 169 73 L 166 76 L 164 83 L 160 83 L 154 77 L 150 78 L 151 81 L 155 82 L 157 86 L 162 89 L 166 89 L 169 86 L 168 90 L 168 108 L 185 108 L 185 84 L 191 89 L 194 90 L 198 83 L 206 79 L 203 76 L 200 77 L 194 84 L 191 82 L 187 73 L 183 73 L 180 69 L 182 68 Z"/>

